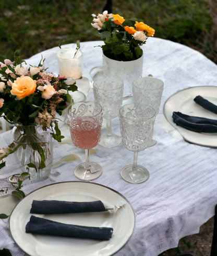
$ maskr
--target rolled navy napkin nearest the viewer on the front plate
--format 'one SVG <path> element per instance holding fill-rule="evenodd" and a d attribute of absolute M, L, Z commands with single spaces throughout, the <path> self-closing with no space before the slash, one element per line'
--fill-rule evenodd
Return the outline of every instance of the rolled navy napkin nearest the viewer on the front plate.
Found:
<path fill-rule="evenodd" d="M 26 225 L 26 232 L 32 234 L 109 240 L 112 237 L 113 228 L 64 224 L 31 216 Z"/>

